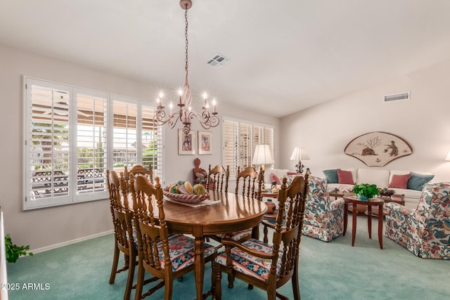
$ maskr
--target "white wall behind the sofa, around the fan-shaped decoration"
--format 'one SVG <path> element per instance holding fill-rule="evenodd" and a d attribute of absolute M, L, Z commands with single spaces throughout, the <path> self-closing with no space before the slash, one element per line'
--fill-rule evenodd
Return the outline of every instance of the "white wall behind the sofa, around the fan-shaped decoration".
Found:
<path fill-rule="evenodd" d="M 315 176 L 335 168 L 368 168 L 344 154 L 349 141 L 371 131 L 404 138 L 413 154 L 379 169 L 430 171 L 433 181 L 450 181 L 450 60 L 387 79 L 384 84 L 329 101 L 281 119 L 281 167 L 294 169 L 289 160 L 295 146 L 309 148 L 304 161 Z M 383 103 L 383 96 L 411 91 L 411 100 Z M 377 168 L 377 167 L 373 167 Z"/>

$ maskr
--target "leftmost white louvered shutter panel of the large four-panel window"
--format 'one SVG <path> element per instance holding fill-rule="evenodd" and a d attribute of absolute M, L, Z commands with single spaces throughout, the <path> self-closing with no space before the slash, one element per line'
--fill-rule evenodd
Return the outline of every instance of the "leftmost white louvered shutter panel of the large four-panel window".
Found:
<path fill-rule="evenodd" d="M 70 202 L 70 87 L 26 81 L 25 205 Z"/>

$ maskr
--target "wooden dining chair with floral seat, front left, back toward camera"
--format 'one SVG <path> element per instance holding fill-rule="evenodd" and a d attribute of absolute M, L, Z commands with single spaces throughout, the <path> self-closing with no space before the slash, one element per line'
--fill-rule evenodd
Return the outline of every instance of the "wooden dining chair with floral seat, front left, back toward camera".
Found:
<path fill-rule="evenodd" d="M 164 299 L 172 299 L 173 281 L 194 268 L 194 239 L 182 234 L 169 235 L 163 205 L 160 178 L 152 185 L 144 176 L 130 176 L 129 189 L 136 207 L 134 226 L 138 240 L 138 278 L 134 299 L 143 299 L 164 286 Z M 158 216 L 155 216 L 158 211 Z M 205 263 L 217 256 L 217 248 L 204 243 Z M 142 294 L 146 271 L 162 279 L 157 286 Z M 214 289 L 212 282 L 212 289 Z"/>

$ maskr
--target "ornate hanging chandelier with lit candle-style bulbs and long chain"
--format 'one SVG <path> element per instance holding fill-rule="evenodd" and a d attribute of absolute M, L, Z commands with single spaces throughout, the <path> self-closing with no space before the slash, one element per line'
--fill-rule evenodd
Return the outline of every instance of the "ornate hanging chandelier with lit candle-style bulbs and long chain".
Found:
<path fill-rule="evenodd" d="M 188 83 L 188 9 L 191 8 L 192 2 L 191 0 L 181 0 L 180 1 L 181 8 L 184 9 L 184 37 L 186 38 L 186 54 L 185 54 L 185 62 L 184 70 L 186 72 L 186 79 L 184 81 L 184 86 L 179 90 L 178 96 L 179 101 L 177 101 L 176 106 L 178 108 L 174 109 L 174 105 L 172 102 L 169 104 L 169 112 L 167 113 L 166 107 L 163 104 L 163 98 L 165 97 L 164 93 L 160 93 L 157 99 L 157 109 L 155 113 L 155 117 L 153 117 L 153 122 L 156 125 L 162 126 L 167 123 L 167 125 L 172 129 L 176 125 L 178 121 L 184 125 L 183 132 L 188 134 L 191 131 L 191 122 L 194 117 L 198 119 L 200 125 L 203 126 L 204 129 L 210 129 L 219 125 L 219 118 L 217 117 L 216 111 L 216 100 L 207 96 L 207 93 L 203 93 L 203 107 L 202 112 L 195 112 L 191 108 L 192 103 L 192 93 L 191 88 Z M 210 102 L 212 104 L 212 112 L 210 112 Z"/>

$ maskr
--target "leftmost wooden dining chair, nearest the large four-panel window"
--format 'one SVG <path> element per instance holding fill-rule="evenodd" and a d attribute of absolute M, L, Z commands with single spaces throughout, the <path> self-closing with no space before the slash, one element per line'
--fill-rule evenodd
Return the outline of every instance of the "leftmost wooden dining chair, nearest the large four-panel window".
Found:
<path fill-rule="evenodd" d="M 114 257 L 113 268 L 110 274 L 110 285 L 115 282 L 115 275 L 128 270 L 127 285 L 125 287 L 124 299 L 129 299 L 134 279 L 134 268 L 137 261 L 137 247 L 133 236 L 133 211 L 129 207 L 127 196 L 124 195 L 123 203 L 120 191 L 126 193 L 127 185 L 122 178 L 119 179 L 115 171 L 106 170 L 106 178 L 110 195 L 110 209 L 114 225 Z M 124 267 L 117 269 L 119 265 L 120 252 L 124 254 Z"/>

